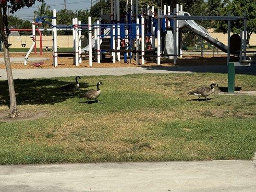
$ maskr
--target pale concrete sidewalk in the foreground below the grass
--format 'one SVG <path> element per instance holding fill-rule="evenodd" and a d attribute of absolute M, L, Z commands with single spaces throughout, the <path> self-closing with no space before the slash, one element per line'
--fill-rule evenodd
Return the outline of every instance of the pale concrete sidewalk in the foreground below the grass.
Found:
<path fill-rule="evenodd" d="M 250 160 L 0 166 L 1 192 L 255 192 Z"/>

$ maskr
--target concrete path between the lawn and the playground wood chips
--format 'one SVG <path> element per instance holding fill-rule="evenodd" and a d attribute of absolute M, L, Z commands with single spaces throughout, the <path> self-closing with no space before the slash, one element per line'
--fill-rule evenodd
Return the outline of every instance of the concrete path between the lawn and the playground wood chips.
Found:
<path fill-rule="evenodd" d="M 216 66 L 155 66 L 155 67 L 119 67 L 119 68 L 56 68 L 56 69 L 22 69 L 12 70 L 14 79 L 50 78 L 76 75 L 127 75 L 138 73 L 193 73 L 193 72 L 217 72 L 227 73 L 226 65 Z M 236 67 L 236 74 L 256 75 L 256 64 L 251 67 Z M 6 80 L 6 71 L 0 70 L 0 80 Z"/>

